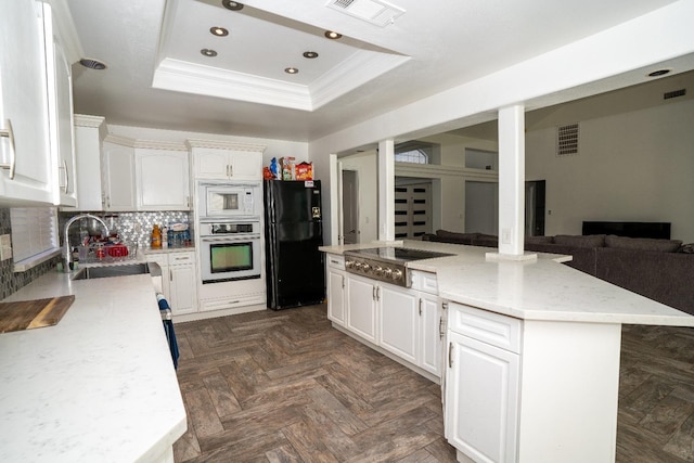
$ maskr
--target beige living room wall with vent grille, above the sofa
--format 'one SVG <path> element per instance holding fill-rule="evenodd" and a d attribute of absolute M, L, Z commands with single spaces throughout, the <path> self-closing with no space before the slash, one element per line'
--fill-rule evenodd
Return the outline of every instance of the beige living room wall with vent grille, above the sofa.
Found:
<path fill-rule="evenodd" d="M 526 133 L 526 180 L 547 180 L 547 235 L 658 221 L 694 242 L 694 100 L 581 121 L 576 156 L 555 156 L 555 132 Z"/>

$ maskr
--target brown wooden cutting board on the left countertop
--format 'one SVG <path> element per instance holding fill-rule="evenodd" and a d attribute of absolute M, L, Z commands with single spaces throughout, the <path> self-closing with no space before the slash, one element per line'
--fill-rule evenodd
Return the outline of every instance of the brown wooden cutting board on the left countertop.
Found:
<path fill-rule="evenodd" d="M 0 303 L 0 333 L 31 330 L 57 324 L 75 296 Z"/>

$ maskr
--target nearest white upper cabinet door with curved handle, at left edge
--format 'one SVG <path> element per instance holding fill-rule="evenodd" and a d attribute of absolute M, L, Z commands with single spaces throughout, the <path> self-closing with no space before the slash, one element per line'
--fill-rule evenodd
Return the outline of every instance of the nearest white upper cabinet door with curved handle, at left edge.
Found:
<path fill-rule="evenodd" d="M 0 50 L 0 203 L 52 204 L 41 2 L 3 2 Z"/>

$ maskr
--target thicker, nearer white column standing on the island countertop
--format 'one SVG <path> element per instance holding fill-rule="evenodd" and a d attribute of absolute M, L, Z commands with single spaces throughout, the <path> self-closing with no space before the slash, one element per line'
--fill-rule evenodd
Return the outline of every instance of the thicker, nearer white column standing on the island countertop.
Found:
<path fill-rule="evenodd" d="M 523 256 L 525 106 L 499 110 L 499 255 Z"/>

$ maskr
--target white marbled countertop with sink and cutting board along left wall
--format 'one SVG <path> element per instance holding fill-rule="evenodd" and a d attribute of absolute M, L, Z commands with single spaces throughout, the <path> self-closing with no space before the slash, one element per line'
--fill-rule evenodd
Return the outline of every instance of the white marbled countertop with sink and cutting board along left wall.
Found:
<path fill-rule="evenodd" d="M 3 301 L 70 294 L 57 325 L 0 334 L 0 461 L 160 456 L 187 421 L 152 278 L 53 271 Z"/>

